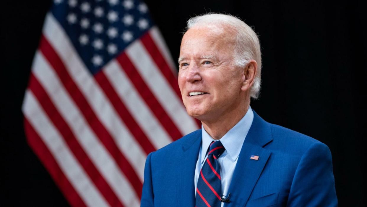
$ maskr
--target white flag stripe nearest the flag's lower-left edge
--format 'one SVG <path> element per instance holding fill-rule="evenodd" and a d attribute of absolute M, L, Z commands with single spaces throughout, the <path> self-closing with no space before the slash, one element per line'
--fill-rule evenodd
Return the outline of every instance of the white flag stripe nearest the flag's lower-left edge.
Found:
<path fill-rule="evenodd" d="M 66 146 L 61 135 L 44 114 L 37 99 L 29 89 L 26 90 L 22 111 L 87 206 L 109 206 L 92 181 L 86 176 L 86 172 L 76 161 L 69 147 Z"/>

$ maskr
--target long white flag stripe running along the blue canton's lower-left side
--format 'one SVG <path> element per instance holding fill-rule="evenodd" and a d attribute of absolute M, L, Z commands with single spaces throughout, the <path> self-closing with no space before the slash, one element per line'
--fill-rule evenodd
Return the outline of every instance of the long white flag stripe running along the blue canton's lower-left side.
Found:
<path fill-rule="evenodd" d="M 88 100 L 98 119 L 109 131 L 117 147 L 135 169 L 140 181 L 143 182 L 145 151 L 118 117 L 108 98 L 80 60 L 67 35 L 50 13 L 46 16 L 43 33 L 57 51 L 73 81 Z"/>

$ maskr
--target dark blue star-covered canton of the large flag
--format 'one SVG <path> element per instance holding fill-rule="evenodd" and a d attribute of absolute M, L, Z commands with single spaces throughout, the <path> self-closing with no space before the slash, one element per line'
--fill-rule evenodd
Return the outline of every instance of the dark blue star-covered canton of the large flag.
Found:
<path fill-rule="evenodd" d="M 138 0 L 55 0 L 51 12 L 92 74 L 153 25 Z"/>

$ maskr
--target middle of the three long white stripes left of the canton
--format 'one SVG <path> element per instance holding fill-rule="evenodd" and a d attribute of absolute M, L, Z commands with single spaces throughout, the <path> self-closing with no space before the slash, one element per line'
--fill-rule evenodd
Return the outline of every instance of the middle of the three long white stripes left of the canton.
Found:
<path fill-rule="evenodd" d="M 40 81 L 43 88 L 47 91 L 54 106 L 65 119 L 71 128 L 78 142 L 84 151 L 91 158 L 103 178 L 106 179 L 109 186 L 113 189 L 120 201 L 125 206 L 139 206 L 139 198 L 134 193 L 133 187 L 127 178 L 120 171 L 116 162 L 103 147 L 96 135 L 92 132 L 83 114 L 75 106 L 72 98 L 63 88 L 57 74 L 43 55 L 37 51 L 34 58 L 33 74 Z"/>

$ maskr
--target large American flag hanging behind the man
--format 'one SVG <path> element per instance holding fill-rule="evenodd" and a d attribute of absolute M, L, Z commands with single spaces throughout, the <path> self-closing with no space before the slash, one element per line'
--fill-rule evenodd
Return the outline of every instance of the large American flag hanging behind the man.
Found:
<path fill-rule="evenodd" d="M 72 206 L 140 206 L 148 153 L 198 128 L 135 0 L 55 0 L 22 111 L 28 143 Z"/>

